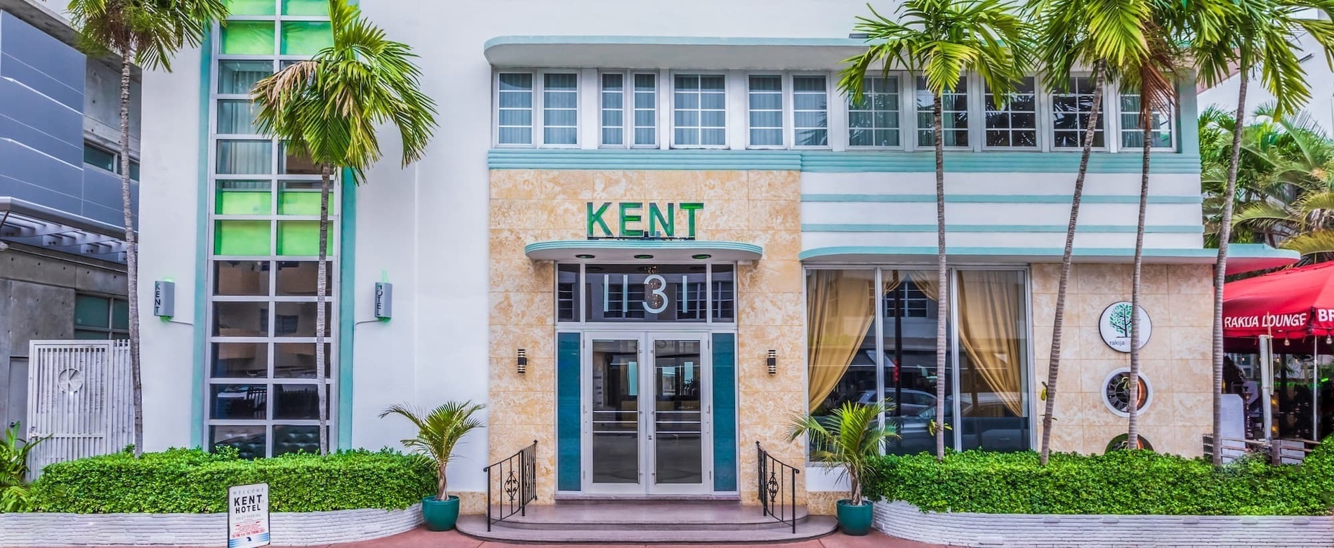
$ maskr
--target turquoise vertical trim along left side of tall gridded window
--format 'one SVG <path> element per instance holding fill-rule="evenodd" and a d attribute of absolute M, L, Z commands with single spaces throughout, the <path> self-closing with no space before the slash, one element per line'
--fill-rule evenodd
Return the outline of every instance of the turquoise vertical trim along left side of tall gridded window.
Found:
<path fill-rule="evenodd" d="M 208 307 L 208 113 L 209 91 L 213 89 L 213 44 L 212 31 L 204 31 L 200 51 L 199 75 L 199 200 L 195 204 L 195 352 L 192 356 L 189 387 L 189 440 L 195 447 L 208 448 L 204 437 L 204 345 L 208 344 L 208 329 L 204 325 Z"/>

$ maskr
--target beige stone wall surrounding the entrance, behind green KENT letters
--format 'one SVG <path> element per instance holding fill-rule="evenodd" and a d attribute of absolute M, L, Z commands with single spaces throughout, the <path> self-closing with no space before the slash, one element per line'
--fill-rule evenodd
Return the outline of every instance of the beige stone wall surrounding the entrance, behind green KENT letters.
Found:
<path fill-rule="evenodd" d="M 738 479 L 755 501 L 755 441 L 794 465 L 803 452 L 784 433 L 804 408 L 800 173 L 783 171 L 491 171 L 490 455 L 538 440 L 538 495 L 555 491 L 554 267 L 528 260 L 535 241 L 586 237 L 588 201 L 700 201 L 698 237 L 759 244 L 738 268 Z M 515 351 L 528 372 L 515 372 Z M 778 375 L 766 371 L 778 352 Z M 800 481 L 799 481 L 800 483 Z"/>

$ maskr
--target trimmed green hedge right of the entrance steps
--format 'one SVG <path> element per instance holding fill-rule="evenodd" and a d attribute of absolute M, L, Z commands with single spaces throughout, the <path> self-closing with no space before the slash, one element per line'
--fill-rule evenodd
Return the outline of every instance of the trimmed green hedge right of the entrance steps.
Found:
<path fill-rule="evenodd" d="M 1334 439 L 1301 467 L 1247 459 L 1207 460 L 1113 451 L 1054 453 L 967 451 L 884 456 L 864 481 L 872 500 L 903 500 L 935 512 L 1318 516 L 1334 507 Z"/>

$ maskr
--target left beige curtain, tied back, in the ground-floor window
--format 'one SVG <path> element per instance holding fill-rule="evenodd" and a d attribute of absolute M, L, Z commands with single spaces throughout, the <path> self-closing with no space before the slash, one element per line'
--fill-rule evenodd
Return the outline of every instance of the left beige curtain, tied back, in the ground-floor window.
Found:
<path fill-rule="evenodd" d="M 874 271 L 811 271 L 806 288 L 810 401 L 815 409 L 847 372 L 875 320 Z"/>

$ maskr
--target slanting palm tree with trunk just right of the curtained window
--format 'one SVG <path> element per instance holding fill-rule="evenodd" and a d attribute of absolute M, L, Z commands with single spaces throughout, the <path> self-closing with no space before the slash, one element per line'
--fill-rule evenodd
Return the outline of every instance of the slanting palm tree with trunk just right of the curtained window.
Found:
<path fill-rule="evenodd" d="M 1103 83 L 1129 67 L 1138 67 L 1149 55 L 1145 27 L 1151 20 L 1150 0 L 1037 0 L 1029 4 L 1029 15 L 1038 21 L 1037 53 L 1045 68 L 1046 84 L 1051 89 L 1069 89 L 1071 72 L 1077 67 L 1091 67 L 1094 93 L 1089 109 L 1089 125 L 1081 144 L 1079 172 L 1070 203 L 1070 223 L 1066 225 L 1066 247 L 1061 255 L 1061 280 L 1057 285 L 1055 317 L 1051 327 L 1051 353 L 1047 363 L 1047 381 L 1042 413 L 1041 463 L 1051 455 L 1051 427 L 1055 420 L 1057 381 L 1061 373 L 1061 344 L 1066 317 L 1066 293 L 1070 287 L 1070 263 L 1074 253 L 1075 227 L 1083 200 L 1089 157 L 1097 137 L 1102 115 Z"/>

